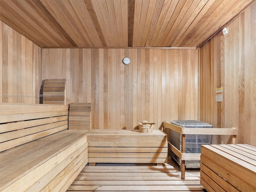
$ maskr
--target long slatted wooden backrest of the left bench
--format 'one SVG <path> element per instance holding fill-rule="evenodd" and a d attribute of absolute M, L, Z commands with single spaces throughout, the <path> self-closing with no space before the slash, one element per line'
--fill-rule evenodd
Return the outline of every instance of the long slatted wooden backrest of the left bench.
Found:
<path fill-rule="evenodd" d="M 68 105 L 0 104 L 0 152 L 68 129 Z"/>

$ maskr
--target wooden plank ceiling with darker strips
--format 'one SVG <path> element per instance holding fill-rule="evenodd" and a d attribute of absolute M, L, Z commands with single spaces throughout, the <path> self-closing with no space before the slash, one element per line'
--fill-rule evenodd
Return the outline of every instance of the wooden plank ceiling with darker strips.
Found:
<path fill-rule="evenodd" d="M 0 0 L 40 47 L 199 47 L 256 0 Z"/>

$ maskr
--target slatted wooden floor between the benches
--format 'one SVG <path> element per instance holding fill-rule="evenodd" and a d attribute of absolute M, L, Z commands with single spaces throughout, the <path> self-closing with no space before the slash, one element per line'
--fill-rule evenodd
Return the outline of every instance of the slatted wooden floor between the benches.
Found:
<path fill-rule="evenodd" d="M 68 192 L 203 191 L 198 176 L 185 180 L 173 166 L 86 166 Z"/>

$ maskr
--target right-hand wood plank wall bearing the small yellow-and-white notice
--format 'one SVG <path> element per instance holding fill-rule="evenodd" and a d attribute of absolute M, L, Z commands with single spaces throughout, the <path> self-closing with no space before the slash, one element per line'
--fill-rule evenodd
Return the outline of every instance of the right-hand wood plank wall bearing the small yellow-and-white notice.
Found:
<path fill-rule="evenodd" d="M 200 48 L 200 120 L 238 128 L 236 143 L 256 145 L 256 4 Z M 223 87 L 223 102 L 215 88 Z M 218 138 L 226 144 L 228 138 Z"/>

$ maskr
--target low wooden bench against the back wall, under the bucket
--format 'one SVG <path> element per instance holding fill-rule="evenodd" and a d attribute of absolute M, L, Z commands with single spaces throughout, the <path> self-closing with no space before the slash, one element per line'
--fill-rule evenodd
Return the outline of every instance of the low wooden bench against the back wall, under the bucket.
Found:
<path fill-rule="evenodd" d="M 161 130 L 92 130 L 87 137 L 89 163 L 167 162 L 167 135 Z"/>

